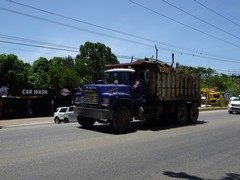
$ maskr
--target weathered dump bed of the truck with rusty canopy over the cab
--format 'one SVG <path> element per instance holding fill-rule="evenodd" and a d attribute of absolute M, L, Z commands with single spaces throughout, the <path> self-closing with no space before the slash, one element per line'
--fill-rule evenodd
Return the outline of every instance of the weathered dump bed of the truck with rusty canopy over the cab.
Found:
<path fill-rule="evenodd" d="M 153 101 L 196 100 L 200 102 L 200 76 L 188 70 L 173 68 L 161 61 L 138 60 L 112 64 L 108 68 L 133 68 L 149 71 L 148 95 Z"/>

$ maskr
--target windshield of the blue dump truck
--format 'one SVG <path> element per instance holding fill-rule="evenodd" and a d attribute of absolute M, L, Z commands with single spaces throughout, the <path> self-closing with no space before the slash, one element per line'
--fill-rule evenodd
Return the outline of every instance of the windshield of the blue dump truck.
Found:
<path fill-rule="evenodd" d="M 107 72 L 105 77 L 107 84 L 114 84 L 115 80 L 118 81 L 118 84 L 131 85 L 132 83 L 132 73 L 130 72 Z"/>

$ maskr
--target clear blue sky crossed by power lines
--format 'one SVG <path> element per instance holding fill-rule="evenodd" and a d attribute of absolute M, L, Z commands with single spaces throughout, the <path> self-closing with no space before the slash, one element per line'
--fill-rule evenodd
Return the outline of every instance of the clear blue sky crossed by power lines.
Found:
<path fill-rule="evenodd" d="M 239 0 L 0 0 L 0 54 L 32 64 L 75 57 L 85 42 L 120 63 L 154 57 L 240 74 Z"/>

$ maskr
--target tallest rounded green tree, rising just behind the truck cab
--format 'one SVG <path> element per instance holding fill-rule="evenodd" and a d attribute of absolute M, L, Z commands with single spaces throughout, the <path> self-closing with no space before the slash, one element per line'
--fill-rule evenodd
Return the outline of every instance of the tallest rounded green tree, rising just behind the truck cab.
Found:
<path fill-rule="evenodd" d="M 106 64 L 119 63 L 111 49 L 99 42 L 86 42 L 81 45 L 76 61 L 77 66 L 81 68 L 78 71 L 85 71 L 94 82 L 103 78 Z M 83 73 L 80 72 L 80 74 Z"/>

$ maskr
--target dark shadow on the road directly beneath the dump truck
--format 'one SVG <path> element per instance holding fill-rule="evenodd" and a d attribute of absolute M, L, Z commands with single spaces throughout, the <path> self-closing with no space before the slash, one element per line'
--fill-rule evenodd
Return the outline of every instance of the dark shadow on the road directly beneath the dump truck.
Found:
<path fill-rule="evenodd" d="M 131 122 L 131 127 L 126 134 L 135 133 L 137 131 L 163 131 L 174 128 L 182 128 L 186 126 L 198 126 L 206 124 L 206 121 L 197 121 L 196 123 L 187 123 L 184 125 L 179 125 L 174 122 L 169 121 L 133 121 Z M 97 131 L 101 133 L 116 134 L 109 124 L 97 124 L 91 128 L 83 128 L 79 126 L 80 129 L 88 129 L 92 131 Z"/>

